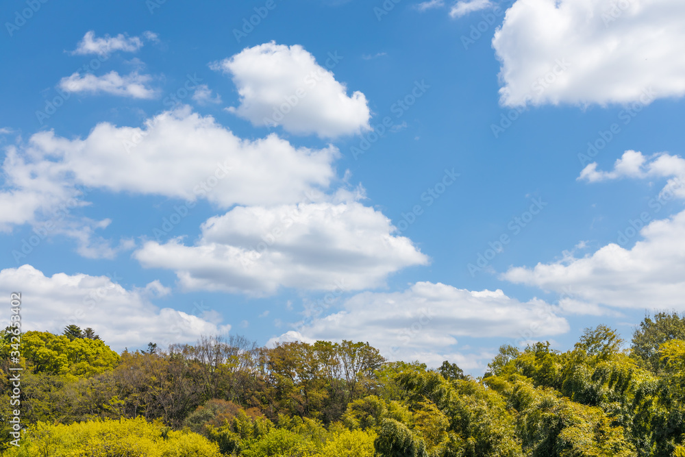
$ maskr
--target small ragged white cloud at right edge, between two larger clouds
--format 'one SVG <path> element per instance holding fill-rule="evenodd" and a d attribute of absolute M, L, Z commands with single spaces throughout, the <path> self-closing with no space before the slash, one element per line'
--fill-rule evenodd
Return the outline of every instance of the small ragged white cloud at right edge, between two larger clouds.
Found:
<path fill-rule="evenodd" d="M 662 195 L 685 198 L 685 159 L 667 153 L 645 157 L 641 152 L 625 151 L 614 163 L 612 171 L 597 171 L 597 163 L 593 162 L 583 169 L 577 180 L 600 182 L 624 177 L 668 177 Z"/>

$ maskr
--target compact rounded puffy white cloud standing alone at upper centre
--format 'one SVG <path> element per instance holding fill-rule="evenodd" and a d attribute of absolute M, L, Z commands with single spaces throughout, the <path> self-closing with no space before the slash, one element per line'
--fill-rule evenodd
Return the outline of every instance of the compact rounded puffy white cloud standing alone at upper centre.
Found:
<path fill-rule="evenodd" d="M 332 69 L 343 57 L 325 56 L 325 66 L 299 45 L 265 43 L 212 64 L 232 76 L 240 105 L 229 108 L 253 125 L 282 125 L 293 134 L 324 138 L 369 129 L 371 113 L 362 92 L 347 95 Z"/>

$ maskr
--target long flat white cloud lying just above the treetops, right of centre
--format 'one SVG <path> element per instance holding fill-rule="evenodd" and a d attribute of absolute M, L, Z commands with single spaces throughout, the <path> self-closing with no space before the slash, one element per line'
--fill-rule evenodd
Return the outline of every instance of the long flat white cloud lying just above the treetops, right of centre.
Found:
<path fill-rule="evenodd" d="M 310 317 L 275 341 L 351 339 L 369 341 L 395 360 L 467 362 L 493 354 L 463 354 L 458 338 L 497 337 L 527 341 L 569 330 L 555 308 L 533 299 L 522 303 L 500 290 L 467 291 L 446 284 L 418 282 L 406 291 L 364 292 L 344 301 L 333 314 Z M 512 341 L 513 343 L 513 341 Z M 464 349 L 465 350 L 465 349 Z M 471 365 L 469 365 L 471 364 Z"/>

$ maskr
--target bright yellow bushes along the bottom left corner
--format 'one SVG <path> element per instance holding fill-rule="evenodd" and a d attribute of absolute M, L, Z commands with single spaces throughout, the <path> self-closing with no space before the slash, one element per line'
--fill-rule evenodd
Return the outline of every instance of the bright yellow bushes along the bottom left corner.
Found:
<path fill-rule="evenodd" d="M 138 419 L 71 425 L 40 422 L 7 457 L 220 457 L 219 447 L 192 432 Z"/>

